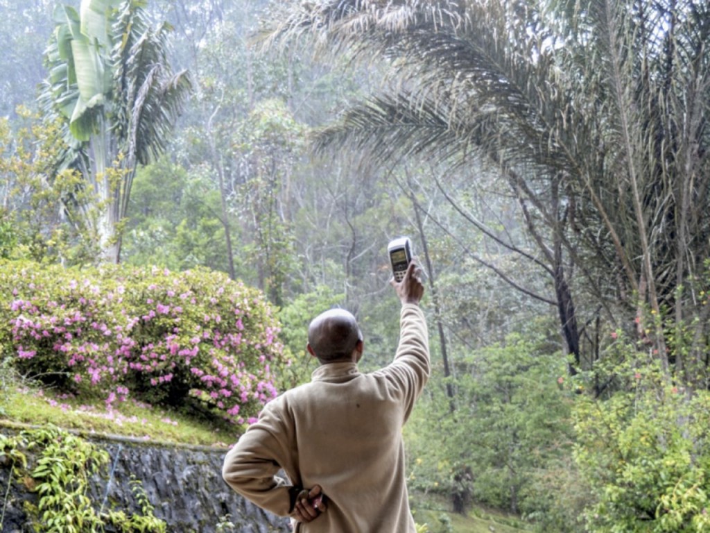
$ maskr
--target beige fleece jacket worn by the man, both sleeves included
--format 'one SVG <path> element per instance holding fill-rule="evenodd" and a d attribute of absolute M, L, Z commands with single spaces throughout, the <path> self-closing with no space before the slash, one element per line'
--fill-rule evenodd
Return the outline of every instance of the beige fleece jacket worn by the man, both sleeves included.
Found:
<path fill-rule="evenodd" d="M 424 314 L 404 304 L 390 365 L 368 374 L 355 363 L 318 367 L 310 383 L 266 404 L 226 454 L 224 480 L 280 516 L 293 511 L 297 488 L 320 485 L 327 511 L 294 531 L 414 532 L 402 426 L 429 374 Z M 278 478 L 281 468 L 288 480 Z"/>

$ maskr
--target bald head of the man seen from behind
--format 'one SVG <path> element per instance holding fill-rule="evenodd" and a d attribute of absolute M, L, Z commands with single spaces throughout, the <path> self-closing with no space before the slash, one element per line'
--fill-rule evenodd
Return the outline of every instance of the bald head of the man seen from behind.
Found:
<path fill-rule="evenodd" d="M 308 326 L 308 351 L 321 362 L 349 360 L 361 340 L 355 317 L 344 309 L 325 311 Z"/>

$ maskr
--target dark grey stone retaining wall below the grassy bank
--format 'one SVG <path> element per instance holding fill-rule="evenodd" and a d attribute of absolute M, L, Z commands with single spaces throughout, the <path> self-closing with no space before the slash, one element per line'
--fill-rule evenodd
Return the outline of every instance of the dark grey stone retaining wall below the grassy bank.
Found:
<path fill-rule="evenodd" d="M 0 429 L 5 434 L 11 430 Z M 288 520 L 264 512 L 236 495 L 222 480 L 224 449 L 187 446 L 160 446 L 121 437 L 87 437 L 111 457 L 106 478 L 96 478 L 92 499 L 104 508 L 130 508 L 131 474 L 143 482 L 154 515 L 165 520 L 170 533 L 214 533 L 217 524 L 229 515 L 234 529 L 227 532 L 288 532 Z M 0 468 L 0 490 L 8 488 L 9 468 Z M 23 501 L 37 497 L 13 480 L 4 500 L 2 533 L 28 533 Z M 1 507 L 2 504 L 0 504 Z M 107 531 L 108 533 L 108 531 Z"/>

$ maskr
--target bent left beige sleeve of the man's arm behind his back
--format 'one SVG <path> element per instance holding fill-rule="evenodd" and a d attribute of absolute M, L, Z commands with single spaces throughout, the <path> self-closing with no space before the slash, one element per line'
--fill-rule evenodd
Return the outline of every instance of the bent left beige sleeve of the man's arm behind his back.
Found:
<path fill-rule="evenodd" d="M 254 504 L 285 517 L 293 512 L 300 488 L 276 475 L 288 461 L 288 431 L 269 407 L 227 452 L 222 478 Z"/>

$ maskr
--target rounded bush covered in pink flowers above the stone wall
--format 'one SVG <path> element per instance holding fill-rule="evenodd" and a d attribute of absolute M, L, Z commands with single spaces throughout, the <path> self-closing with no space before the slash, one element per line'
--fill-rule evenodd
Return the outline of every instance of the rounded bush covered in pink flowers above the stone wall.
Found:
<path fill-rule="evenodd" d="M 207 269 L 0 263 L 2 357 L 109 408 L 133 397 L 244 423 L 276 395 L 278 333 L 260 291 Z"/>

